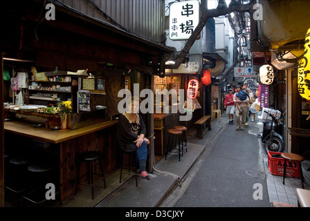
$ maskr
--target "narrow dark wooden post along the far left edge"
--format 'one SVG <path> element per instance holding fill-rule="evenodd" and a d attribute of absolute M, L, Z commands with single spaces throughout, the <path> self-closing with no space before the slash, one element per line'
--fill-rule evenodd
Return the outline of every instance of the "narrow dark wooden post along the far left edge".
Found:
<path fill-rule="evenodd" d="M 1 70 L 1 76 L 0 76 L 0 104 L 2 105 L 0 108 L 0 137 L 1 137 L 1 143 L 0 143 L 0 207 L 4 207 L 4 124 L 3 124 L 3 118 L 4 118 L 4 109 L 3 109 L 3 55 L 0 51 L 0 70 Z"/>

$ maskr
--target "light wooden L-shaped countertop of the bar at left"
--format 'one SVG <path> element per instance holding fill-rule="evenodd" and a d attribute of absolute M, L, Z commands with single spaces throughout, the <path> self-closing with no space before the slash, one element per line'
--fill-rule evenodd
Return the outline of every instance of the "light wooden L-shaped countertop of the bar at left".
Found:
<path fill-rule="evenodd" d="M 90 126 L 84 126 L 74 130 L 51 130 L 50 128 L 35 127 L 33 124 L 27 122 L 4 122 L 4 131 L 9 133 L 15 133 L 26 137 L 31 137 L 36 140 L 42 140 L 50 142 L 52 144 L 58 144 L 66 140 L 71 140 L 75 137 L 80 137 L 88 133 L 100 131 L 104 128 L 114 126 L 118 124 L 117 120 L 109 120 L 107 122 L 101 122 Z"/>

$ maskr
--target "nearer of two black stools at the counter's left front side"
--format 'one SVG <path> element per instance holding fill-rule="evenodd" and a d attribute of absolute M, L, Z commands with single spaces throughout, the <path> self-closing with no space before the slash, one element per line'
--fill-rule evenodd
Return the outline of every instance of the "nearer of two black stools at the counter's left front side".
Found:
<path fill-rule="evenodd" d="M 46 163 L 35 163 L 28 166 L 28 171 L 30 175 L 33 175 L 33 190 L 26 193 L 24 199 L 35 204 L 41 204 L 46 200 L 50 200 L 48 197 L 53 199 L 57 195 L 60 205 L 62 205 L 60 185 L 57 184 L 55 166 Z M 48 191 L 48 189 L 46 189 L 46 184 L 54 184 L 55 192 L 53 193 L 55 193 L 55 195 L 46 195 Z"/>

